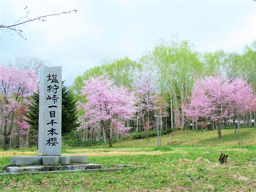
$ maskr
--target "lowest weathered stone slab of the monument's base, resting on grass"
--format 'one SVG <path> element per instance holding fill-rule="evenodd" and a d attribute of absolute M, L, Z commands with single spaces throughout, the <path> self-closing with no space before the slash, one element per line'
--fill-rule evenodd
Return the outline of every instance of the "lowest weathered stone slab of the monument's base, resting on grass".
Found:
<path fill-rule="evenodd" d="M 10 166 L 6 168 L 9 173 L 28 173 L 28 172 L 56 172 L 56 171 L 82 171 L 82 170 L 94 170 L 103 169 L 101 164 L 70 164 L 60 166 Z"/>

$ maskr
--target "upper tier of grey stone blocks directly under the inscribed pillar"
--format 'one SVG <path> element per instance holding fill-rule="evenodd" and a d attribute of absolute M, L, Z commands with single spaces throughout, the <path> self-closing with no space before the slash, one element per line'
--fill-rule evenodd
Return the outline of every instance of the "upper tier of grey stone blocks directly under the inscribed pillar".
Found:
<path fill-rule="evenodd" d="M 72 163 L 85 164 L 88 163 L 88 156 L 17 156 L 11 157 L 11 165 L 68 165 Z"/>

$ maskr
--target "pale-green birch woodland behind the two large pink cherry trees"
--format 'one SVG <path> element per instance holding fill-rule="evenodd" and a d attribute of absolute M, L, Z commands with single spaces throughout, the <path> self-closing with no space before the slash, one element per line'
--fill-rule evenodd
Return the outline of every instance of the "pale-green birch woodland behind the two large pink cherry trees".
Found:
<path fill-rule="evenodd" d="M 86 70 L 78 76 L 70 89 L 77 100 L 86 102 L 81 96 L 84 80 L 90 76 L 98 77 L 108 73 L 118 87 L 126 86 L 138 96 L 138 110 L 124 126 L 131 127 L 128 133 L 149 129 L 215 129 L 214 123 L 206 124 L 199 118 L 192 122 L 185 116 L 181 104 L 189 100 L 195 79 L 219 74 L 226 79 L 239 78 L 252 84 L 256 92 L 256 41 L 246 45 L 242 53 L 198 52 L 189 41 L 161 42 L 154 49 L 134 61 L 125 57 L 105 60 L 101 66 Z M 79 112 L 80 115 L 83 111 Z M 84 119 L 82 120 L 84 121 Z M 157 122 L 158 121 L 158 122 Z M 242 126 L 255 126 L 255 112 L 242 116 Z M 236 126 L 236 116 L 227 120 L 222 127 Z M 120 135 L 111 133 L 113 138 Z M 123 137 L 123 136 L 121 136 Z M 77 138 L 81 140 L 100 140 L 106 135 L 90 127 L 79 128 Z"/>

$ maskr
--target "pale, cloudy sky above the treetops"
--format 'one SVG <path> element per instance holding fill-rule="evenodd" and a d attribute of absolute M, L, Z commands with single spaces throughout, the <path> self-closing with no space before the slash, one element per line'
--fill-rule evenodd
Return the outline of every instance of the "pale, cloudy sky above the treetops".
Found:
<path fill-rule="evenodd" d="M 242 52 L 256 39 L 256 2 L 242 1 L 4 1 L 0 25 L 77 10 L 17 26 L 20 38 L 0 30 L 0 64 L 15 54 L 30 55 L 48 66 L 62 66 L 70 86 L 85 70 L 127 56 L 139 59 L 159 39 L 189 40 L 200 52 Z"/>

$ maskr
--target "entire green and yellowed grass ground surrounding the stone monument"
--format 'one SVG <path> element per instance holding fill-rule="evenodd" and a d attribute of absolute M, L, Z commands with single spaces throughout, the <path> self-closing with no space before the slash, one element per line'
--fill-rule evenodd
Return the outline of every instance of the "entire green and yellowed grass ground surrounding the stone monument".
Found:
<path fill-rule="evenodd" d="M 63 155 L 88 155 L 89 163 L 138 165 L 116 172 L 0 175 L 0 191 L 256 191 L 256 129 L 174 133 L 157 138 L 114 143 L 113 148 L 65 148 Z M 229 161 L 219 164 L 220 153 Z M 37 155 L 36 149 L 0 150 L 0 165 L 11 156 Z M 146 167 L 146 169 L 144 168 Z M 190 177 L 191 176 L 191 177 Z M 191 179 L 192 178 L 192 179 Z M 251 183 L 251 184 L 249 184 Z"/>

